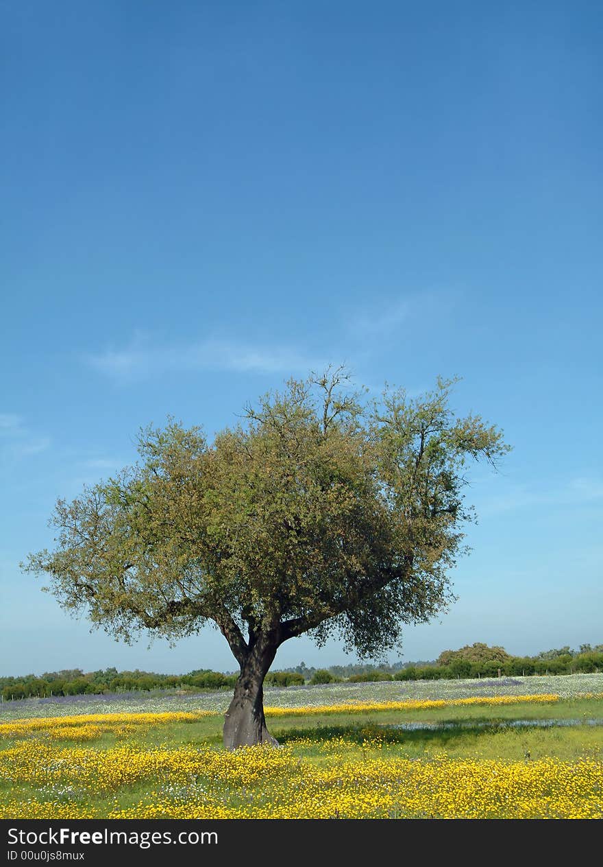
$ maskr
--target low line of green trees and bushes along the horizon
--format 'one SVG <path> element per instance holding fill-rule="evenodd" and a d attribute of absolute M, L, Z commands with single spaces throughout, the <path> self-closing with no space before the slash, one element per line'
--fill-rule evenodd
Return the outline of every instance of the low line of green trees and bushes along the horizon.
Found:
<path fill-rule="evenodd" d="M 458 650 L 444 650 L 437 660 L 429 662 L 397 662 L 334 665 L 329 668 L 308 668 L 301 662 L 295 668 L 271 671 L 265 685 L 276 687 L 302 686 L 304 683 L 334 681 L 415 681 L 441 680 L 460 677 L 496 677 L 502 675 L 569 675 L 603 671 L 603 644 L 580 644 L 542 651 L 536 656 L 512 656 L 501 647 L 489 647 L 476 642 Z M 155 672 L 118 671 L 105 668 L 84 673 L 81 668 L 47 671 L 41 676 L 0 677 L 3 701 L 37 696 L 97 695 L 133 691 L 179 689 L 233 688 L 237 675 L 211 671 L 207 668 L 187 675 L 161 675 Z"/>

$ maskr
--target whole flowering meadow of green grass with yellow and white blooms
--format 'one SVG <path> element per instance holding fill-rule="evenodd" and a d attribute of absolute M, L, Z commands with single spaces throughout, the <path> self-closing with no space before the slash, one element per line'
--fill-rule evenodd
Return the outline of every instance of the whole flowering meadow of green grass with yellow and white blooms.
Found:
<path fill-rule="evenodd" d="M 236 753 L 221 748 L 221 714 L 190 702 L 7 703 L 0 817 L 603 818 L 603 726 L 588 724 L 603 720 L 603 688 L 566 683 L 559 697 L 525 681 L 446 698 L 438 684 L 414 698 L 323 687 L 289 693 L 289 707 L 267 694 L 281 746 Z"/>

